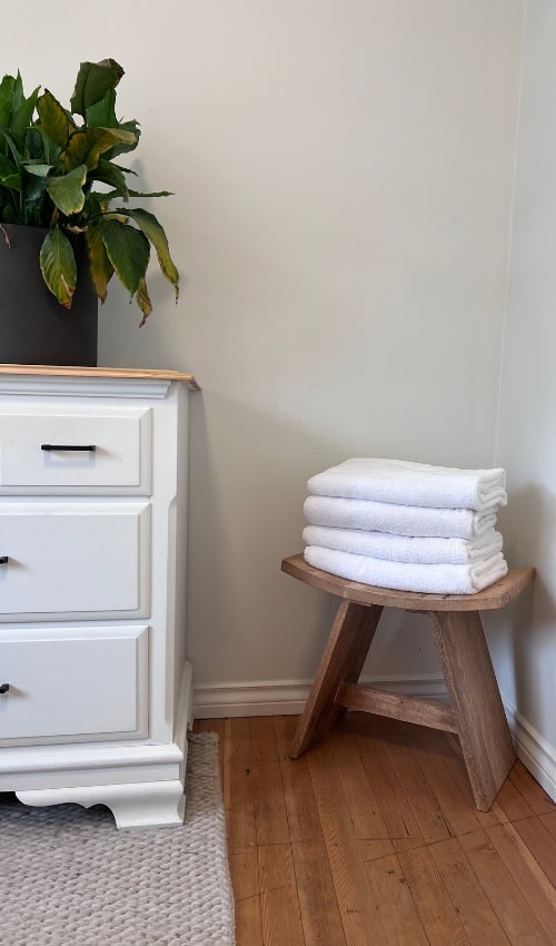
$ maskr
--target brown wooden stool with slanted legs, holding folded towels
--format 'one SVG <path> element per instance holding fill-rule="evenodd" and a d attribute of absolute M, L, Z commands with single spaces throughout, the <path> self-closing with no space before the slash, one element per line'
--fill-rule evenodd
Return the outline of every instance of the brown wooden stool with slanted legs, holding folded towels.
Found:
<path fill-rule="evenodd" d="M 455 732 L 475 804 L 481 811 L 488 811 L 516 753 L 479 611 L 496 610 L 512 601 L 533 581 L 535 569 L 512 569 L 477 594 L 389 591 L 314 569 L 302 554 L 284 559 L 281 569 L 342 599 L 291 743 L 290 758 L 299 758 L 347 709 Z M 385 693 L 357 682 L 385 607 L 428 614 L 450 706 Z"/>

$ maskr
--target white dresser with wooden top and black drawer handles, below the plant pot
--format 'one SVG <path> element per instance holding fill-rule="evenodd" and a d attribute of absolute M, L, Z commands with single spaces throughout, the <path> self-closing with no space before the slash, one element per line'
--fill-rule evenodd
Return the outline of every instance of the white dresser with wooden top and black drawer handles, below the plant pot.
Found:
<path fill-rule="evenodd" d="M 191 375 L 0 366 L 0 791 L 183 819 Z"/>

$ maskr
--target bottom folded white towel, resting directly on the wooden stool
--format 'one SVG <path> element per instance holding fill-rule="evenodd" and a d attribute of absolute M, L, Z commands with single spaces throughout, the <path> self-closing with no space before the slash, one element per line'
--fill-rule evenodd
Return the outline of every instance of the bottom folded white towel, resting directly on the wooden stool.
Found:
<path fill-rule="evenodd" d="M 315 569 L 321 569 L 350 581 L 427 594 L 475 594 L 504 578 L 508 571 L 502 552 L 467 565 L 387 562 L 384 559 L 351 555 L 349 552 L 337 552 L 318 545 L 308 545 L 304 554 L 305 561 Z"/>

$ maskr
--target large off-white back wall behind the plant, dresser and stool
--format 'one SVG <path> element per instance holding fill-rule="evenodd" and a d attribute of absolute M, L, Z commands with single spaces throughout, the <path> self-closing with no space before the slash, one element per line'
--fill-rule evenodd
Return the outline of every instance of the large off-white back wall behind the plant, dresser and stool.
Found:
<path fill-rule="evenodd" d="M 48 14 L 31 0 L 27 21 L 33 9 L 34 35 L 2 14 L 22 35 L 4 70 L 67 101 L 79 59 L 113 56 L 119 110 L 142 124 L 140 185 L 176 191 L 157 208 L 180 304 L 153 270 L 139 331 L 112 290 L 100 363 L 202 386 L 198 701 L 302 698 L 332 607 L 280 573 L 308 476 L 349 455 L 494 461 L 523 2 L 100 0 L 86 23 L 61 0 Z M 376 673 L 434 687 L 423 618 L 390 615 L 374 647 Z"/>

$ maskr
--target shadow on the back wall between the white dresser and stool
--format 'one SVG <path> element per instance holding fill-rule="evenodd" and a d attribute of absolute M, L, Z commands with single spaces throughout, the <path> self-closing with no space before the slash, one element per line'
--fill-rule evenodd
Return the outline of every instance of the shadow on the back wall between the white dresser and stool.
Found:
<path fill-rule="evenodd" d="M 309 476 L 381 446 L 338 441 L 210 391 L 191 398 L 188 652 L 199 683 L 314 677 L 338 602 L 280 562 L 302 549 Z M 385 613 L 371 654 L 387 677 L 438 667 L 426 622 L 401 612 Z"/>

